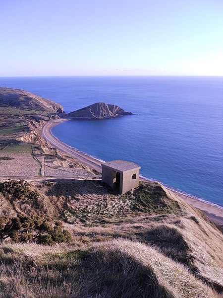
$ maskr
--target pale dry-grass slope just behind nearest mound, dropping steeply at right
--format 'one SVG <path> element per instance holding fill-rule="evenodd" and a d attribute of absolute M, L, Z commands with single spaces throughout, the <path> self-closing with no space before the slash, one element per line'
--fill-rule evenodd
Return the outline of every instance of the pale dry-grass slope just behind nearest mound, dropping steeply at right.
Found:
<path fill-rule="evenodd" d="M 138 217 L 126 223 L 98 226 L 65 225 L 83 243 L 128 238 L 153 245 L 217 291 L 223 291 L 223 236 L 205 221 L 200 226 L 187 216 Z"/>

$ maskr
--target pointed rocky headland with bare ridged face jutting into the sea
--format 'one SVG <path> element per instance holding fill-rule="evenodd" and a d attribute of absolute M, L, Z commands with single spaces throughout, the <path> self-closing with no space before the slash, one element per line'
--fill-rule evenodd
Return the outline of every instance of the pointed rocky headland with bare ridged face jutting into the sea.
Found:
<path fill-rule="evenodd" d="M 108 119 L 121 115 L 132 115 L 132 113 L 125 112 L 123 109 L 113 104 L 97 102 L 80 110 L 68 113 L 67 117 L 78 119 Z"/>

